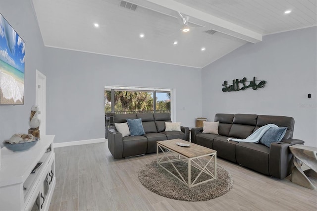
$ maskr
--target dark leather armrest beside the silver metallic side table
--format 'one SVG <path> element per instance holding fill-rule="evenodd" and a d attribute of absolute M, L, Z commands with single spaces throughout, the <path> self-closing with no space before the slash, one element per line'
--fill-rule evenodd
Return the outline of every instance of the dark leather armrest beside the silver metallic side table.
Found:
<path fill-rule="evenodd" d="M 269 148 L 269 174 L 279 179 L 287 177 L 294 166 L 293 156 L 288 148 L 291 145 L 284 141 L 274 142 Z"/>

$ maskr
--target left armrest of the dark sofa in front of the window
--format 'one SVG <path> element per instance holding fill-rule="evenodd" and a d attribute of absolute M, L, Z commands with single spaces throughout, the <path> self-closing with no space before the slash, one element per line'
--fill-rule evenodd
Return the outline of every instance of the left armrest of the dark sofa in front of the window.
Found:
<path fill-rule="evenodd" d="M 108 149 L 113 158 L 123 158 L 122 134 L 116 130 L 108 130 Z"/>

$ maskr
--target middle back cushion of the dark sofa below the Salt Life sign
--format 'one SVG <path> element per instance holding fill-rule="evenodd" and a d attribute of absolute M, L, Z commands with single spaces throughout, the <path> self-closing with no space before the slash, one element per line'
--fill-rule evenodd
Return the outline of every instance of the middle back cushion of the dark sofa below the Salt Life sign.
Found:
<path fill-rule="evenodd" d="M 257 125 L 256 114 L 235 114 L 229 137 L 245 139 L 250 136 Z"/>

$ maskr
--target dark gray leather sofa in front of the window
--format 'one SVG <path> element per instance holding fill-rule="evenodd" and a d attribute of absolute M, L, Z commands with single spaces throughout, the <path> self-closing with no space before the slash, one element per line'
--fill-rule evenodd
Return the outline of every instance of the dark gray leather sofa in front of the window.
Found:
<path fill-rule="evenodd" d="M 127 122 L 126 119 L 142 119 L 145 134 L 142 136 L 126 136 L 115 129 L 108 131 L 108 148 L 113 158 L 155 153 L 157 141 L 169 139 L 189 140 L 189 128 L 181 126 L 179 131 L 165 132 L 165 122 L 171 122 L 169 113 L 133 113 L 114 114 L 114 123 Z"/>

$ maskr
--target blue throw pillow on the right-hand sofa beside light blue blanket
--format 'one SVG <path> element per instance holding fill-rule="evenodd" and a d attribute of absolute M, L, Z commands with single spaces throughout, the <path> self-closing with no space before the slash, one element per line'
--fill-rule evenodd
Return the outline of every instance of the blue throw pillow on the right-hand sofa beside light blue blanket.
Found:
<path fill-rule="evenodd" d="M 271 143 L 282 140 L 286 130 L 287 127 L 271 127 L 263 134 L 259 143 L 265 145 L 266 147 L 270 147 Z"/>

